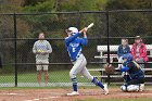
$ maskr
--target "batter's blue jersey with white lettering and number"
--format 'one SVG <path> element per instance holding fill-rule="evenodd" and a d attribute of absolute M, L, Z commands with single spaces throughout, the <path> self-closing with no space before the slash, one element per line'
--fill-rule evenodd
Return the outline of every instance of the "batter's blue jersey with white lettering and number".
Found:
<path fill-rule="evenodd" d="M 65 47 L 67 48 L 72 62 L 76 61 L 79 54 L 81 54 L 81 47 L 88 43 L 87 38 L 79 38 L 79 35 L 80 33 L 77 33 L 65 38 Z"/>

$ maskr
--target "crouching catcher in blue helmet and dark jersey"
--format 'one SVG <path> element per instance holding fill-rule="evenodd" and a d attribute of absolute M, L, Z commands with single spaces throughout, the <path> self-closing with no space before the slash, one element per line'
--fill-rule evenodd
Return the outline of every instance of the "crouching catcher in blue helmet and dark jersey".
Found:
<path fill-rule="evenodd" d="M 142 91 L 144 89 L 144 73 L 141 71 L 140 65 L 132 61 L 130 53 L 123 55 L 123 66 L 121 72 L 125 72 L 125 85 L 121 88 L 123 91 Z"/>

